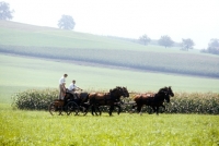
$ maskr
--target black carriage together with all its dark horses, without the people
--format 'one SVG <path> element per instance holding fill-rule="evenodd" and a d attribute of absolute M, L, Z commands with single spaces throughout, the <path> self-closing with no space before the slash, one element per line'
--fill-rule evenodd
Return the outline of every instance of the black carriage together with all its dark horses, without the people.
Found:
<path fill-rule="evenodd" d="M 120 97 L 129 97 L 129 93 L 126 87 L 117 86 L 114 89 L 111 89 L 110 93 L 80 93 L 79 98 L 74 98 L 74 96 L 70 93 L 67 93 L 64 100 L 54 100 L 49 106 L 49 112 L 54 114 L 71 114 L 78 115 L 80 112 L 85 115 L 89 111 L 89 108 L 92 107 L 92 114 L 94 112 L 96 115 L 101 114 L 100 107 L 107 106 L 108 114 L 112 115 L 112 112 L 115 107 L 118 108 L 117 113 L 119 114 L 123 106 L 127 106 L 127 104 L 123 104 Z M 171 87 L 160 88 L 157 94 L 146 93 L 146 94 L 136 94 L 132 98 L 134 102 L 129 102 L 129 107 L 131 106 L 132 111 L 142 112 L 142 107 L 147 106 L 152 108 L 153 112 L 159 114 L 159 108 L 162 107 L 165 110 L 165 106 L 163 105 L 164 100 L 170 102 L 170 97 L 173 97 L 174 94 Z M 99 114 L 96 113 L 96 109 L 99 110 Z M 152 111 L 151 111 L 152 112 Z"/>

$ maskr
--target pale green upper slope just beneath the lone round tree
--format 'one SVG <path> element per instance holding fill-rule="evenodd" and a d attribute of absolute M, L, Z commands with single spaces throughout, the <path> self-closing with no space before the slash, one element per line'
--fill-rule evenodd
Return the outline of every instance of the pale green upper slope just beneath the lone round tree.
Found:
<path fill-rule="evenodd" d="M 130 49 L 141 45 L 104 36 L 39 27 L 8 21 L 0 21 L 0 45 L 58 47 L 58 48 L 104 48 Z"/>

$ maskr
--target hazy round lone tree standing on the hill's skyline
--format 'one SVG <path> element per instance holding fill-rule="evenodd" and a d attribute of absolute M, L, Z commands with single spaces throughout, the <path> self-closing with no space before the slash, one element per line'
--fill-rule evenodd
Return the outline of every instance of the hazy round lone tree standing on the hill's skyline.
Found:
<path fill-rule="evenodd" d="M 70 15 L 62 15 L 58 21 L 58 27 L 61 29 L 73 29 L 74 25 L 73 17 Z"/>

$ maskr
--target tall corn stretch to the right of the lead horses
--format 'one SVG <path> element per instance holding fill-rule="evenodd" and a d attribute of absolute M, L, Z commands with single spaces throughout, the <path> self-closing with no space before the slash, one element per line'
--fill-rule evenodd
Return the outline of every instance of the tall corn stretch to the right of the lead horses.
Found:
<path fill-rule="evenodd" d="M 219 94 L 176 93 L 168 105 L 166 112 L 219 114 Z"/>

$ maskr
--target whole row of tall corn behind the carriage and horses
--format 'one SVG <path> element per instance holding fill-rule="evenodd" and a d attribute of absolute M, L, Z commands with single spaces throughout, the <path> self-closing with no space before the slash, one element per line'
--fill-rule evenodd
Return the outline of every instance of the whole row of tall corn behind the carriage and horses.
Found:
<path fill-rule="evenodd" d="M 22 110 L 48 110 L 48 106 L 58 98 L 58 89 L 31 89 L 13 96 L 13 108 Z M 130 102 L 132 98 L 128 99 Z M 127 101 L 127 100 L 126 100 Z M 219 114 L 219 94 L 217 93 L 175 93 L 171 102 L 165 105 L 165 113 L 198 113 Z M 131 105 L 124 105 L 123 112 L 131 111 Z M 103 112 L 107 107 L 101 108 Z M 145 107 L 143 112 L 152 112 L 150 107 Z"/>

